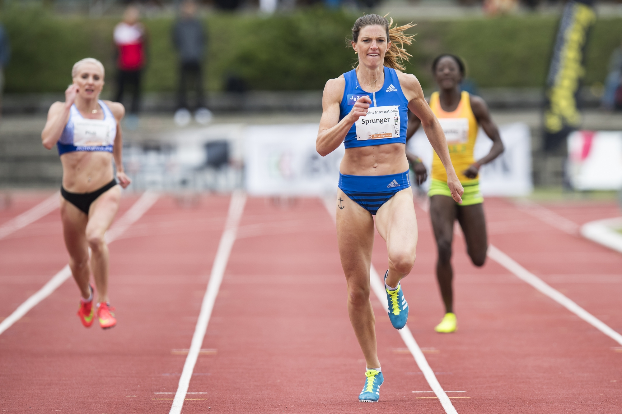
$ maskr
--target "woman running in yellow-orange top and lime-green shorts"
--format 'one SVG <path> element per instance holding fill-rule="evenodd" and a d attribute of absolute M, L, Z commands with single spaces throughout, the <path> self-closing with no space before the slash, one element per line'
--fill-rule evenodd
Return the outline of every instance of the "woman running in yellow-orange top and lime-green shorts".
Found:
<path fill-rule="evenodd" d="M 458 171 L 460 182 L 465 192 L 462 204 L 453 199 L 450 189 L 445 184 L 445 161 L 434 148 L 432 159 L 432 184 L 430 184 L 430 218 L 439 250 L 436 264 L 436 276 L 439 281 L 440 294 L 445 303 L 445 316 L 434 329 L 440 333 L 457 330 L 457 318 L 453 312 L 453 269 L 452 241 L 453 223 L 458 220 L 465 235 L 466 251 L 475 266 L 482 266 L 486 260 L 488 240 L 486 237 L 486 220 L 480 193 L 480 166 L 497 158 L 503 152 L 503 142 L 499 130 L 490 118 L 486 102 L 479 96 L 471 96 L 460 90 L 460 83 L 465 75 L 465 65 L 454 55 L 440 55 L 432 63 L 434 79 L 440 92 L 430 97 L 430 107 L 439 118 L 447 137 L 448 150 L 453 167 Z M 411 138 L 421 123 L 419 115 L 414 114 L 408 126 L 408 138 Z M 488 137 L 493 141 L 490 152 L 478 161 L 473 158 L 473 148 L 477 138 L 478 125 L 481 125 Z M 424 128 L 425 129 L 425 128 Z M 427 133 L 427 132 L 426 132 Z M 413 161 L 417 181 L 426 179 L 427 171 L 420 160 L 408 153 Z"/>

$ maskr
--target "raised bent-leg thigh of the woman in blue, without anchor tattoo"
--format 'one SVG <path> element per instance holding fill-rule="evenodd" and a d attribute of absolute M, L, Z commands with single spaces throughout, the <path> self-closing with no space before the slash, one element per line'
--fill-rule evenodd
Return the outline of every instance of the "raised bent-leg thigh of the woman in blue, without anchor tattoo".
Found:
<path fill-rule="evenodd" d="M 412 189 L 403 189 L 378 209 L 376 228 L 387 243 L 389 261 L 396 270 L 407 273 L 417 251 L 417 216 Z"/>

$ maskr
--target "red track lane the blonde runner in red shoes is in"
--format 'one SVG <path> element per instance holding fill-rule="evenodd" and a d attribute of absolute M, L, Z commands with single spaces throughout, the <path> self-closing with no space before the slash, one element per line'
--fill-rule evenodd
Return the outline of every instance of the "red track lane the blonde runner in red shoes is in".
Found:
<path fill-rule="evenodd" d="M 164 197 L 137 225 L 157 227 L 166 215 L 186 222 L 179 233 L 128 237 L 110 246 L 111 300 L 119 321 L 112 330 L 97 322 L 90 329 L 80 325 L 77 289 L 70 283 L 34 308 L 27 323 L 12 326 L 5 333 L 11 336 L 0 337 L 3 405 L 37 412 L 167 413 L 170 402 L 152 400 L 153 392 L 174 391 L 179 380 L 183 356 L 173 350 L 192 337 L 197 292 L 205 289 L 227 205 L 228 197 L 203 197 L 196 209 L 182 209 Z M 220 226 L 205 217 L 220 217 Z M 204 232 L 196 231 L 200 226 Z"/>

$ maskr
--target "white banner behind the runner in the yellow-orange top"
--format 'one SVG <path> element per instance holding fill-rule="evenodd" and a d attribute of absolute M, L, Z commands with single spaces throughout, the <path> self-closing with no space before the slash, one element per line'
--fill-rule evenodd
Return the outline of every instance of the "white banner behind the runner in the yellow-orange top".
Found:
<path fill-rule="evenodd" d="M 480 191 L 484 196 L 526 196 L 533 189 L 529 127 L 522 122 L 499 125 L 499 132 L 505 151 L 491 163 L 481 166 Z M 492 145 L 493 142 L 480 128 L 475 142 L 475 159 L 485 156 Z M 428 170 L 428 179 L 422 186 L 427 191 L 430 186 L 429 173 L 434 150 L 423 128 L 419 128 L 409 140 L 408 149 L 421 158 Z"/>

